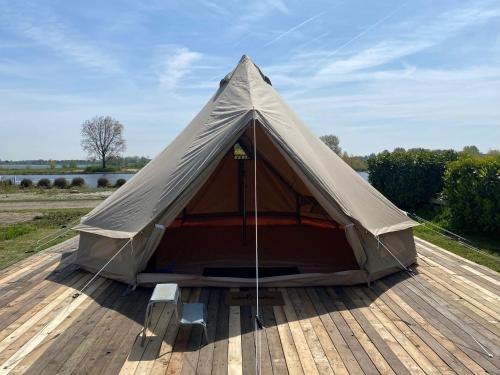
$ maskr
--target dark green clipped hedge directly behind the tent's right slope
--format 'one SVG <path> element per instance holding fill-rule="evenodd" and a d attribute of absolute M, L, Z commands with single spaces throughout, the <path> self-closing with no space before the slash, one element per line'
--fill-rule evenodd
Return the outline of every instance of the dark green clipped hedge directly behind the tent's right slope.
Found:
<path fill-rule="evenodd" d="M 446 165 L 457 158 L 453 150 L 384 151 L 368 159 L 369 180 L 395 205 L 416 208 L 442 191 Z"/>

